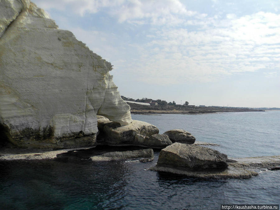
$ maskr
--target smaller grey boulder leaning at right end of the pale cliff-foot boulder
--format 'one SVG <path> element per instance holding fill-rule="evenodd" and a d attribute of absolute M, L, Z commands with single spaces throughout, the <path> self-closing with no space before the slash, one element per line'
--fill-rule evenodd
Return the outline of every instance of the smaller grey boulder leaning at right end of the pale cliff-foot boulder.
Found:
<path fill-rule="evenodd" d="M 172 142 L 167 135 L 164 134 L 153 134 L 150 137 L 142 136 L 136 134 L 134 138 L 135 145 L 141 145 L 142 147 L 151 147 L 151 148 L 165 148 L 168 145 L 171 145 Z"/>

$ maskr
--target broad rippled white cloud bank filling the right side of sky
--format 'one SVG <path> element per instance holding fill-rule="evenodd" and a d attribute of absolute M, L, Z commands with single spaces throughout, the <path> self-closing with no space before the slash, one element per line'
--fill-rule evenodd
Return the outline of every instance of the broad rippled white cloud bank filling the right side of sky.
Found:
<path fill-rule="evenodd" d="M 279 18 L 280 15 L 259 12 L 214 23 L 209 17 L 202 31 L 162 28 L 142 46 L 145 56 L 139 59 L 135 72 L 140 72 L 138 78 L 143 82 L 177 84 L 279 69 Z M 146 56 L 151 52 L 152 56 Z M 275 76 L 266 76 L 272 75 Z"/>

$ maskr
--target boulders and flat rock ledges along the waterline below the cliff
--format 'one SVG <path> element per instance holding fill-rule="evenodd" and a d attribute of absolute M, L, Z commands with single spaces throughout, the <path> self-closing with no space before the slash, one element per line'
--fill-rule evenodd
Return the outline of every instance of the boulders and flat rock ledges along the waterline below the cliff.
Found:
<path fill-rule="evenodd" d="M 219 146 L 208 142 L 195 142 L 195 137 L 182 129 L 158 134 L 156 126 L 133 120 L 120 125 L 104 116 L 97 116 L 98 135 L 92 147 L 77 147 L 46 151 L 35 148 L 0 149 L 0 161 L 46 160 L 71 155 L 84 156 L 91 161 L 152 161 L 153 149 L 160 149 L 158 161 L 149 170 L 197 178 L 249 179 L 258 175 L 256 170 L 278 170 L 280 156 L 228 158 L 227 155 L 207 147 Z M 103 147 L 98 150 L 94 147 Z M 114 147 L 112 147 L 114 146 Z M 116 147 L 117 146 L 117 147 Z M 119 149 L 124 146 L 123 151 Z M 136 150 L 131 148 L 137 146 Z M 148 149 L 139 149 L 146 147 Z M 107 148 L 114 148 L 108 151 Z"/>

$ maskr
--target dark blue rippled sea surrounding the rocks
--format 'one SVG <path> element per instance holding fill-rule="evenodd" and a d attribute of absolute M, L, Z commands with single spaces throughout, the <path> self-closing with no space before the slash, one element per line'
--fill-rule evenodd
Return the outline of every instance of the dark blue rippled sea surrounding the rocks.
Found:
<path fill-rule="evenodd" d="M 160 133 L 180 128 L 229 157 L 280 155 L 280 111 L 132 115 Z M 151 162 L 92 162 L 96 147 L 54 160 L 0 162 L 0 209 L 220 209 L 221 204 L 279 204 L 280 171 L 250 179 L 198 179 L 147 170 Z"/>

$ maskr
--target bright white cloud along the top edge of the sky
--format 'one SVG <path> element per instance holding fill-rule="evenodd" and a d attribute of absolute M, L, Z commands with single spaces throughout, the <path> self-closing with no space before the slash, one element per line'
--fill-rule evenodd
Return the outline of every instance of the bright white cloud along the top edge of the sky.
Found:
<path fill-rule="evenodd" d="M 39 7 L 46 10 L 70 10 L 79 16 L 97 13 L 100 10 L 118 19 L 134 24 L 150 23 L 155 25 L 179 24 L 181 16 L 194 16 L 197 12 L 187 10 L 179 0 L 35 0 Z M 207 14 L 201 14 L 201 17 Z"/>

